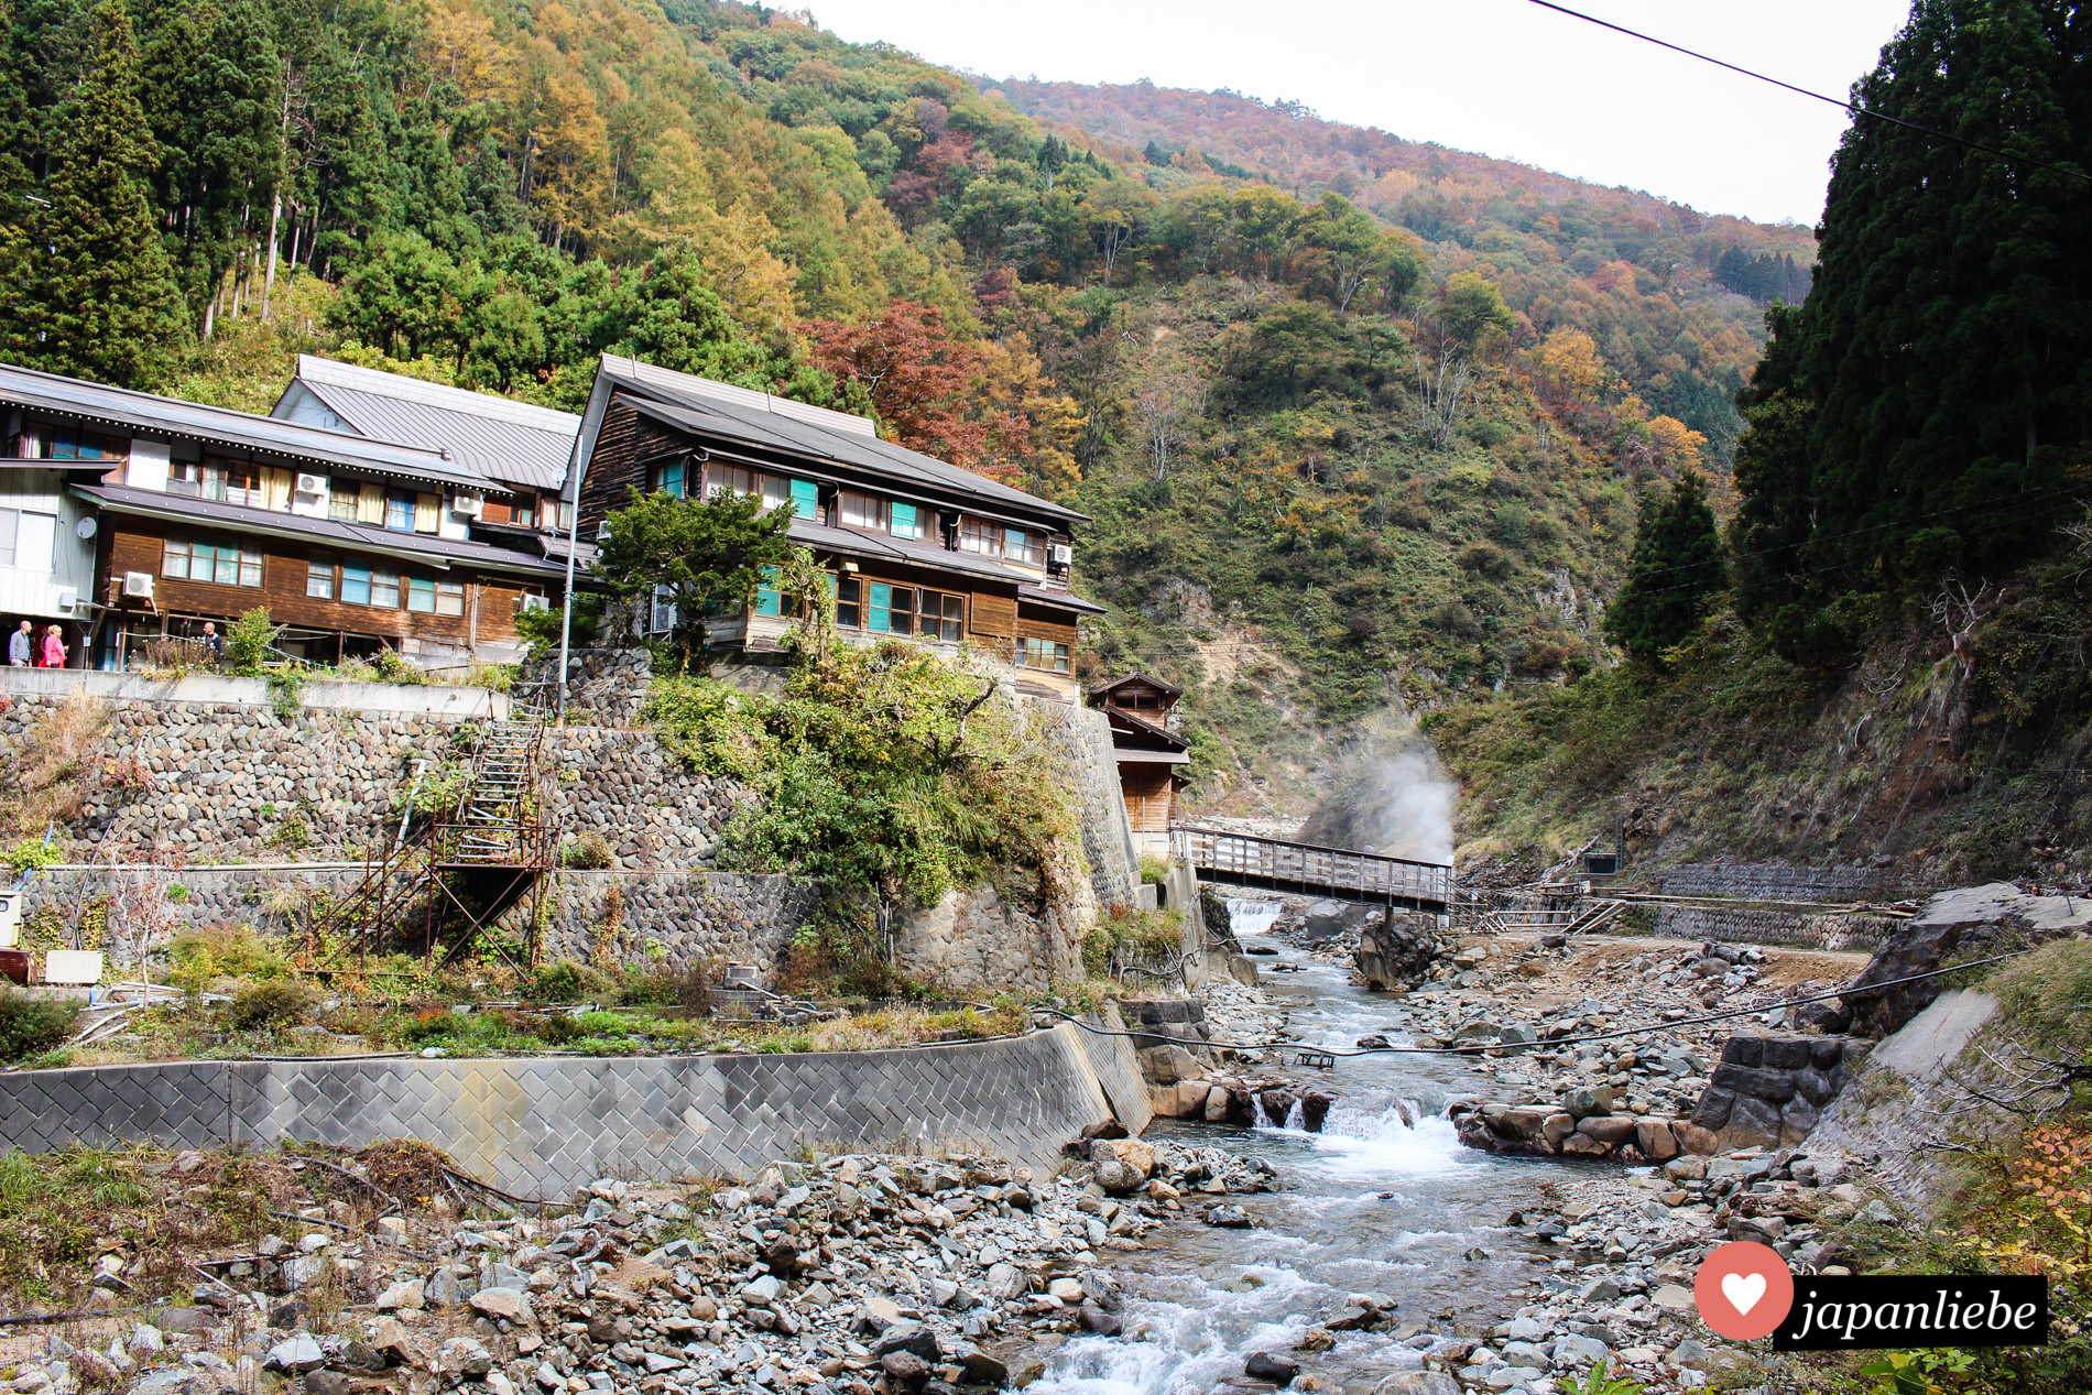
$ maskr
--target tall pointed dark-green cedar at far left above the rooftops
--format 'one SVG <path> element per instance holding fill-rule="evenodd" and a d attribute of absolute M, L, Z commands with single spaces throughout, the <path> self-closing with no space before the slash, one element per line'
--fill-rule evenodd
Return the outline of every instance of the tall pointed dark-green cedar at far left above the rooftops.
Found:
<path fill-rule="evenodd" d="M 105 0 L 90 21 L 71 132 L 48 203 L 8 230 L 0 356 L 121 387 L 146 387 L 180 339 L 174 268 L 153 226 L 157 163 L 138 105 L 130 15 Z M 23 201 L 25 203 L 25 201 Z"/>

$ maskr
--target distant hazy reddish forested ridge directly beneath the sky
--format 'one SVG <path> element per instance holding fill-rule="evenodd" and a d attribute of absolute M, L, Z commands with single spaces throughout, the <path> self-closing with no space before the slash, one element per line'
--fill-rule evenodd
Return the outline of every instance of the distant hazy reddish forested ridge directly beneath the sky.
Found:
<path fill-rule="evenodd" d="M 1264 180 L 1341 195 L 1414 232 L 1431 270 L 1504 289 L 1519 337 L 1577 328 L 1653 412 L 1707 435 L 1718 462 L 1759 314 L 1810 291 L 1810 228 L 1703 213 L 1628 188 L 1320 119 L 1303 102 L 1234 92 L 977 79 L 1050 130 L 1082 132 L 1151 188 Z"/>

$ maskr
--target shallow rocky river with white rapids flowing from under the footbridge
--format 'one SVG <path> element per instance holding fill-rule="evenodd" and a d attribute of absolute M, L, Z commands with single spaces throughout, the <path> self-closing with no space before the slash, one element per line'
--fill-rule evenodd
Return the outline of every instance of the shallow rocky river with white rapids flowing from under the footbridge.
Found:
<path fill-rule="evenodd" d="M 1236 916 L 1241 931 L 1251 929 L 1247 920 Z M 1299 1046 L 1349 1048 L 1397 1019 L 1400 1000 L 1351 987 L 1345 964 L 1257 935 L 1241 939 L 1280 950 L 1257 958 L 1264 968 L 1299 964 L 1299 973 L 1264 975 Z M 1186 1221 L 1155 1232 L 1153 1249 L 1111 1257 L 1125 1282 L 1125 1336 L 1065 1343 L 1031 1395 L 1207 1395 L 1241 1378 L 1251 1351 L 1291 1353 L 1303 1328 L 1343 1309 L 1345 1295 L 1379 1293 L 1402 1305 L 1395 1322 L 1339 1332 L 1335 1351 L 1295 1357 L 1335 1389 L 1364 1395 L 1389 1368 L 1374 1353 L 1404 1324 L 1450 1336 L 1454 1324 L 1487 1328 L 1531 1301 L 1519 1295 L 1544 1272 L 1529 1257 L 1546 1247 L 1504 1228 L 1504 1217 L 1529 1207 L 1565 1165 L 1494 1159 L 1454 1140 L 1446 1100 L 1490 1081 L 1458 1056 L 1351 1056 L 1318 1083 L 1339 1094 L 1322 1134 L 1167 1119 L 1149 1129 L 1149 1138 L 1261 1157 L 1287 1190 L 1230 1198 L 1249 1209 L 1255 1230 Z"/>

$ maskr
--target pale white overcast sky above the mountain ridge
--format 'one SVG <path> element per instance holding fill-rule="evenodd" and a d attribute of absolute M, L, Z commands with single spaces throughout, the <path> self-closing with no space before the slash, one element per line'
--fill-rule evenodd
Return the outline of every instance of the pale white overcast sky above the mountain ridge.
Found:
<path fill-rule="evenodd" d="M 1234 88 L 1331 121 L 1816 222 L 1845 113 L 1527 0 L 812 0 L 847 40 L 994 77 Z M 1843 98 L 1908 0 L 1582 0 L 1571 8 Z"/>

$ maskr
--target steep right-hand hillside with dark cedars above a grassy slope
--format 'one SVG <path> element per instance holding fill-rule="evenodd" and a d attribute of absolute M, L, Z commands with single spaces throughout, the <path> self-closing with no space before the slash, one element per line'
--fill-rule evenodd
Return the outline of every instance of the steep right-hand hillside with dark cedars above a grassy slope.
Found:
<path fill-rule="evenodd" d="M 1609 617 L 1628 665 L 1435 719 L 1471 834 L 2086 872 L 2088 38 L 2061 0 L 1918 0 L 1774 314 L 1726 550 L 1674 491 Z"/>

